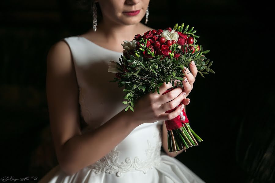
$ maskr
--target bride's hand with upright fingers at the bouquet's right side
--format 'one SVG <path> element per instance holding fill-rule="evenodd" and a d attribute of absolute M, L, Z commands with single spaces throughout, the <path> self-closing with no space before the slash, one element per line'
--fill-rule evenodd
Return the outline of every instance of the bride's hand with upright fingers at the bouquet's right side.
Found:
<path fill-rule="evenodd" d="M 184 105 L 188 105 L 190 103 L 190 99 L 186 99 L 186 97 L 189 95 L 189 93 L 193 89 L 193 84 L 196 80 L 196 75 L 198 73 L 198 70 L 194 61 L 192 61 L 189 64 L 189 68 L 191 73 L 189 69 L 186 67 L 182 70 L 182 73 L 186 74 L 185 77 L 183 77 L 183 81 L 182 81 L 183 88 L 184 88 L 183 91 L 185 91 L 186 93 L 182 102 Z"/>

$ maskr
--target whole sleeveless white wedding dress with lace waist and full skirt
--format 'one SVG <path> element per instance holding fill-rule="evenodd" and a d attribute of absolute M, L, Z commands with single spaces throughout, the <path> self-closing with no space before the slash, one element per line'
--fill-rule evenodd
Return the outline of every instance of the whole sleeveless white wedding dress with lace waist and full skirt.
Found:
<path fill-rule="evenodd" d="M 71 49 L 75 64 L 81 113 L 89 124 L 83 129 L 85 133 L 104 124 L 126 107 L 122 103 L 124 87 L 109 82 L 114 80 L 115 73 L 108 72 L 109 60 L 119 62 L 122 52 L 103 48 L 81 36 L 64 38 L 64 41 Z M 141 124 L 96 163 L 73 175 L 65 174 L 57 165 L 39 182 L 204 183 L 179 160 L 160 151 L 162 124 L 163 121 Z"/>

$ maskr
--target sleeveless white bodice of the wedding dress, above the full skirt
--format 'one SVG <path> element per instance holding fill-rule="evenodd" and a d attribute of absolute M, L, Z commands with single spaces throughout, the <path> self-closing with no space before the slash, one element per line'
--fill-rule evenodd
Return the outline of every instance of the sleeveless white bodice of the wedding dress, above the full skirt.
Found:
<path fill-rule="evenodd" d="M 81 36 L 64 38 L 71 49 L 79 85 L 81 114 L 88 124 L 82 133 L 96 130 L 126 108 L 122 101 L 124 88 L 110 82 L 115 74 L 108 72 L 109 60 L 119 62 L 121 52 L 103 48 Z M 101 160 L 89 167 L 95 172 L 116 173 L 142 171 L 160 162 L 161 125 L 163 121 L 141 124 Z"/>

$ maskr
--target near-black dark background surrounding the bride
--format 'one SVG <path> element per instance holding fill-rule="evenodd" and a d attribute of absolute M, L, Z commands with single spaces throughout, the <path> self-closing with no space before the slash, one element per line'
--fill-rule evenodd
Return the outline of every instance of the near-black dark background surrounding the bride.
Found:
<path fill-rule="evenodd" d="M 1 178 L 42 178 L 57 164 L 46 55 L 91 28 L 74 0 L 0 2 Z M 187 114 L 204 140 L 176 158 L 206 182 L 274 182 L 274 56 L 267 1 L 156 1 L 148 26 L 194 26 L 216 74 L 196 77 Z M 142 22 L 144 23 L 144 20 Z"/>

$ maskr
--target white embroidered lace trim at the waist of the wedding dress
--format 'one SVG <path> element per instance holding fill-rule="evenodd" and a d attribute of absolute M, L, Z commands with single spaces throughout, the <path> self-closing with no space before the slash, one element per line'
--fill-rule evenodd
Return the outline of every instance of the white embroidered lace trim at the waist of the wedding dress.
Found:
<path fill-rule="evenodd" d="M 148 169 L 157 167 L 160 164 L 160 148 L 162 145 L 160 131 L 156 132 L 154 137 L 157 135 L 158 138 L 156 138 L 156 145 L 152 146 L 150 141 L 147 140 L 148 149 L 146 150 L 145 160 L 140 160 L 140 158 L 136 156 L 134 159 L 128 157 L 125 159 L 125 162 L 119 163 L 120 152 L 117 150 L 118 146 L 116 146 L 112 151 L 108 152 L 107 155 L 88 167 L 97 174 L 100 172 L 106 172 L 109 174 L 116 173 L 118 177 L 120 177 L 122 173 L 132 171 L 142 171 L 146 174 Z"/>

